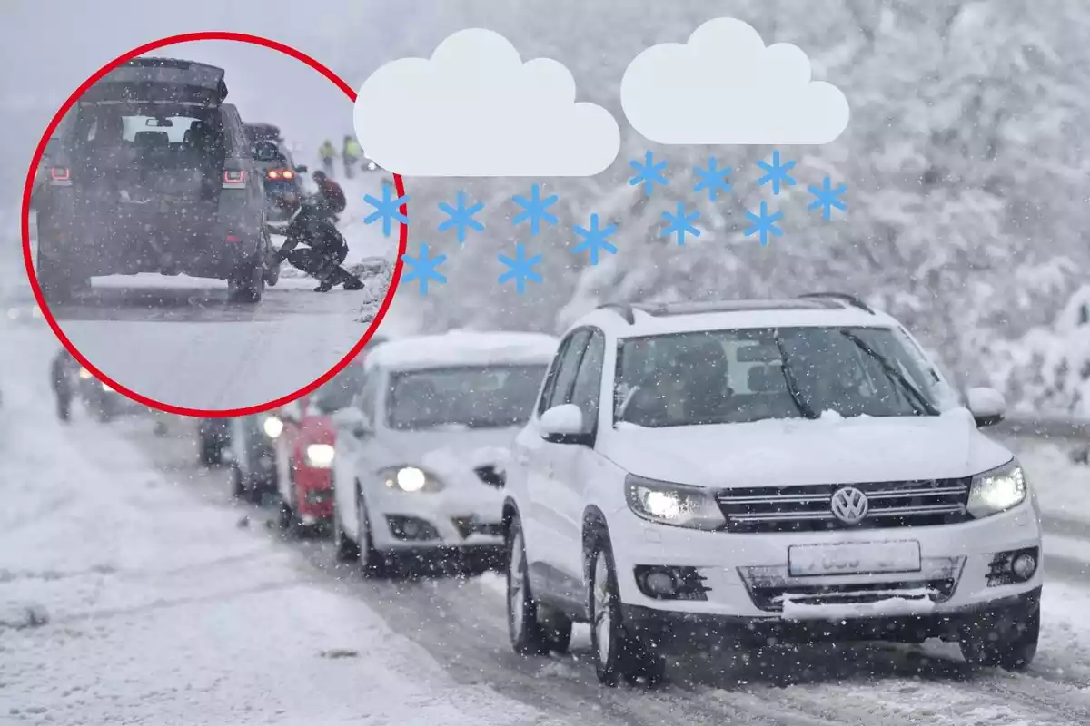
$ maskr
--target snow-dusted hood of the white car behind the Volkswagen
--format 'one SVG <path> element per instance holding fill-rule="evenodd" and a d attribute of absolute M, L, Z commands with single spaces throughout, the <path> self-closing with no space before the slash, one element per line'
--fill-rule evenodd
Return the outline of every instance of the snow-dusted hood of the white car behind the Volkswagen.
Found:
<path fill-rule="evenodd" d="M 448 485 L 480 485 L 474 469 L 506 471 L 518 428 L 383 432 L 387 465 L 427 469 Z"/>

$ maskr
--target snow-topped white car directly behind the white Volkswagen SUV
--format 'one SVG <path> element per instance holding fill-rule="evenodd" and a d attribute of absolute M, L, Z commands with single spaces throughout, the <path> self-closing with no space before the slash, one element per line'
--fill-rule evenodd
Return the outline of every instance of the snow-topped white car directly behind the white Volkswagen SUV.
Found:
<path fill-rule="evenodd" d="M 366 357 L 337 427 L 337 557 L 382 575 L 411 559 L 500 566 L 504 478 L 557 341 L 516 332 L 400 337 Z"/>

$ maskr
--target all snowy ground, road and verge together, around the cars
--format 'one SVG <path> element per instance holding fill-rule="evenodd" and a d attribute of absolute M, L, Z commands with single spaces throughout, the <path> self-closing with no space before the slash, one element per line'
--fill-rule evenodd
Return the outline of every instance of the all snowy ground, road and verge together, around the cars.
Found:
<path fill-rule="evenodd" d="M 191 420 L 62 430 L 37 328 L 0 331 L 0 723 L 1090 723 L 1090 469 L 1061 450 L 1022 454 L 1049 516 L 1028 674 L 974 673 L 948 645 L 826 645 L 610 690 L 582 629 L 569 656 L 510 651 L 497 576 L 370 581 L 326 542 L 283 541 L 196 466 Z"/>

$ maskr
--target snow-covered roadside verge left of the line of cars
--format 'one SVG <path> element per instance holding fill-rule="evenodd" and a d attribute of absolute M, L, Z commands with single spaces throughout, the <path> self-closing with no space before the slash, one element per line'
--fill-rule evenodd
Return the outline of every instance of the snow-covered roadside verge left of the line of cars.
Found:
<path fill-rule="evenodd" d="M 44 325 L 0 328 L 0 719 L 545 723 L 455 682 L 290 549 L 52 416 Z"/>

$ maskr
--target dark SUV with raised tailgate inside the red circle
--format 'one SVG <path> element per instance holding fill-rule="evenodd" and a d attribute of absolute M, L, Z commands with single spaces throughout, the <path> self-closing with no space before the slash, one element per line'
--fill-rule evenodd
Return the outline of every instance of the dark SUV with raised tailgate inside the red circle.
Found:
<path fill-rule="evenodd" d="M 37 204 L 47 299 L 95 275 L 158 272 L 227 280 L 232 300 L 261 300 L 264 181 L 223 75 L 137 58 L 80 98 Z"/>

